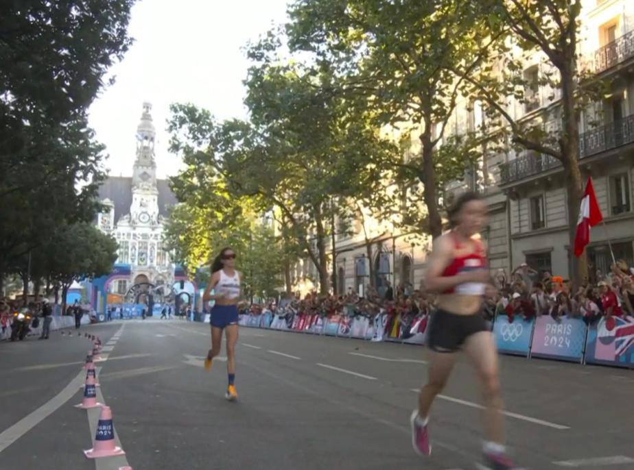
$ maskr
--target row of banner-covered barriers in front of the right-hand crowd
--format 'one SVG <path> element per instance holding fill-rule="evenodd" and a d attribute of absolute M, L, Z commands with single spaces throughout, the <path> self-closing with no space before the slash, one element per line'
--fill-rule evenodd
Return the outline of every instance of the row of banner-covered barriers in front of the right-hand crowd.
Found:
<path fill-rule="evenodd" d="M 334 314 L 241 314 L 239 325 L 285 332 L 320 334 L 364 341 L 387 341 L 424 345 L 427 325 L 433 315 L 419 315 L 413 319 L 400 314 L 379 314 L 373 317 L 349 317 Z M 209 314 L 205 317 L 209 321 Z M 609 326 L 613 326 L 611 329 Z M 537 319 L 515 317 L 508 321 L 499 315 L 493 321 L 493 335 L 502 354 L 602 364 L 634 369 L 634 319 L 615 318 L 609 325 L 604 318 L 587 326 L 582 319 Z"/>

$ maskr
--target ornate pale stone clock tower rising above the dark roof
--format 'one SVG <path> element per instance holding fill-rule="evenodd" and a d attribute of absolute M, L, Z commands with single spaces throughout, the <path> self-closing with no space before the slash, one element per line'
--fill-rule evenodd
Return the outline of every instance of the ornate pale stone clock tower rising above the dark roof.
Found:
<path fill-rule="evenodd" d="M 156 226 L 158 224 L 158 188 L 152 123 L 152 105 L 143 103 L 141 123 L 137 127 L 137 158 L 132 167 L 132 205 L 130 224 Z"/>

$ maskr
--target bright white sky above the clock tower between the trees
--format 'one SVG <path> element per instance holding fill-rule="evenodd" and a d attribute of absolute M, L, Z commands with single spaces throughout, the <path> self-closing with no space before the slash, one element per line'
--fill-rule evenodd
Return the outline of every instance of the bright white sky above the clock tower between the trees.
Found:
<path fill-rule="evenodd" d="M 90 112 L 97 140 L 110 155 L 110 175 L 132 174 L 134 136 L 143 101 L 150 101 L 157 132 L 159 177 L 174 175 L 178 159 L 167 152 L 169 104 L 191 102 L 219 119 L 244 117 L 248 61 L 241 50 L 285 21 L 287 0 L 143 0 L 132 9 L 135 43 L 113 66 L 116 83 Z"/>

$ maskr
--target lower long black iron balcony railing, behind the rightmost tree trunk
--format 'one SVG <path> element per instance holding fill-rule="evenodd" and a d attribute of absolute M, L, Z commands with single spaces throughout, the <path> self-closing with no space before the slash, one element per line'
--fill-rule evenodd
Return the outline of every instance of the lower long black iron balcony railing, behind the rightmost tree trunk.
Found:
<path fill-rule="evenodd" d="M 580 158 L 586 158 L 631 143 L 634 143 L 634 114 L 581 134 L 579 155 Z M 500 184 L 539 175 L 560 165 L 561 162 L 550 155 L 527 153 L 500 164 Z"/>

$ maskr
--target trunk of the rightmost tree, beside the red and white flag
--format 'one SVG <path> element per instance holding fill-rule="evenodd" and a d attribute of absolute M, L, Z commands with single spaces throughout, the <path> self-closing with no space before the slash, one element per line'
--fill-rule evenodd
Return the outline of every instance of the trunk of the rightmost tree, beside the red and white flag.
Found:
<path fill-rule="evenodd" d="M 560 70 L 561 73 L 561 106 L 563 120 L 562 164 L 566 182 L 568 209 L 568 243 L 570 259 L 570 279 L 574 285 L 580 286 L 588 275 L 587 253 L 579 258 L 574 256 L 574 238 L 576 234 L 579 208 L 583 197 L 583 179 L 579 167 L 579 120 L 575 106 L 574 53 L 571 52 Z"/>

